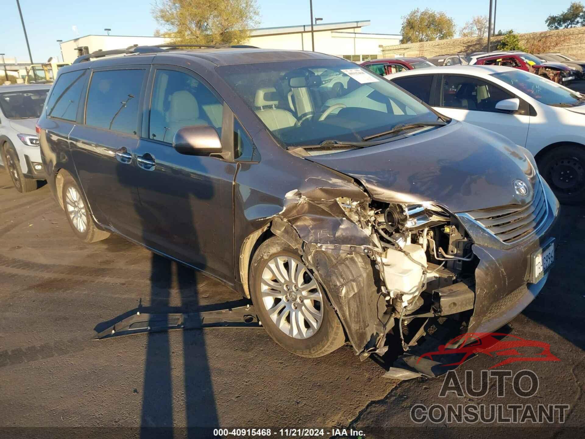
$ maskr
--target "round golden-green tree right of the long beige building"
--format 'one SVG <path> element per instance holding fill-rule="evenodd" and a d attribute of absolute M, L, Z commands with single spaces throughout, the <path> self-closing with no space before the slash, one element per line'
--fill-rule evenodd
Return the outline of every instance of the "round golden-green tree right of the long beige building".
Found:
<path fill-rule="evenodd" d="M 421 11 L 417 8 L 402 17 L 400 33 L 402 44 L 453 38 L 455 21 L 445 12 L 435 12 L 428 8 Z"/>

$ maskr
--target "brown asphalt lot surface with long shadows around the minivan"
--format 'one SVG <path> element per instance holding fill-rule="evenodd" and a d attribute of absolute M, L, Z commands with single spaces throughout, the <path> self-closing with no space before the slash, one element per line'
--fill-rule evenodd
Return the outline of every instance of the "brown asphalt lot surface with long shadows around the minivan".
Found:
<path fill-rule="evenodd" d="M 550 344 L 560 361 L 505 366 L 539 377 L 530 403 L 570 409 L 564 424 L 518 424 L 518 437 L 585 432 L 584 218 L 585 208 L 563 207 L 548 284 L 511 323 L 512 334 Z M 160 437 L 173 428 L 174 437 L 209 437 L 214 427 L 325 427 L 326 436 L 332 427 L 363 430 L 366 437 L 472 434 L 473 425 L 417 425 L 409 415 L 417 403 L 470 397 L 439 397 L 442 378 L 384 379 L 379 365 L 360 362 L 349 347 L 303 359 L 263 330 L 242 328 L 91 341 L 137 310 L 207 310 L 239 299 L 118 236 L 78 241 L 47 186 L 19 194 L 0 168 L 0 435 L 64 437 L 71 427 L 116 437 L 134 437 L 140 427 L 142 435 Z M 459 370 L 479 372 L 499 361 L 480 355 Z M 516 395 L 505 402 L 527 403 Z M 492 383 L 481 403 L 501 403 Z M 165 430 L 148 430 L 154 427 Z M 500 427 L 477 427 L 473 434 L 493 436 L 494 428 Z"/>

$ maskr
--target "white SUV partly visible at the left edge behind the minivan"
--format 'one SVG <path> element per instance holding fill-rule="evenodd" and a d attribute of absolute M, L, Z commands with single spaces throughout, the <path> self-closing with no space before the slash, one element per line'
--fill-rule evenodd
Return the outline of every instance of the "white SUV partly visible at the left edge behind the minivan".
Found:
<path fill-rule="evenodd" d="M 36 122 L 51 85 L 16 84 L 0 87 L 0 165 L 19 192 L 37 188 L 45 180 Z"/>

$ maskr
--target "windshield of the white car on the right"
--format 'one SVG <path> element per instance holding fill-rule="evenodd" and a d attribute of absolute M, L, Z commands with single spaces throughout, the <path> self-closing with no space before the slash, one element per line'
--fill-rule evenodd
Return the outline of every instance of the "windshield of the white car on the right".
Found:
<path fill-rule="evenodd" d="M 492 73 L 491 76 L 518 88 L 518 90 L 546 105 L 574 107 L 585 103 L 583 101 L 585 96 L 579 92 L 523 70 Z"/>

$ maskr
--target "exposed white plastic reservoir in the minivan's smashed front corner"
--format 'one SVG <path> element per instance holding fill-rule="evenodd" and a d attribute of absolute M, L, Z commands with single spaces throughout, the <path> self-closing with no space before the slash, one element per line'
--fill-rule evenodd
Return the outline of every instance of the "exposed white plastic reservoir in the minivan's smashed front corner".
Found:
<path fill-rule="evenodd" d="M 420 262 L 426 267 L 426 255 L 422 246 L 418 244 L 407 244 L 404 251 L 410 253 L 412 259 Z M 417 293 L 417 287 L 422 280 L 422 267 L 412 262 L 404 253 L 387 249 L 382 258 L 384 266 L 384 280 L 388 291 L 398 290 L 408 296 L 408 293 Z M 403 297 L 408 300 L 408 297 Z"/>

